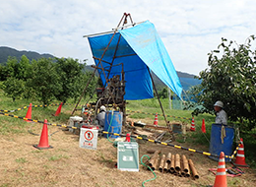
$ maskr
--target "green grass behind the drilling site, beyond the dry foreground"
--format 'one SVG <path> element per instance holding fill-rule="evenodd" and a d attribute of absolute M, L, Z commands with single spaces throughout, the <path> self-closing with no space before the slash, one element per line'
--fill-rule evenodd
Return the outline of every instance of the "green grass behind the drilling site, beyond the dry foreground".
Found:
<path fill-rule="evenodd" d="M 87 100 L 87 99 L 85 99 Z M 135 121 L 142 121 L 147 124 L 153 124 L 155 119 L 155 114 L 159 114 L 159 125 L 165 126 L 165 121 L 162 115 L 162 111 L 160 109 L 160 103 L 158 99 L 144 99 L 144 100 L 128 100 L 127 101 L 127 114 L 129 118 L 134 119 Z M 24 106 L 29 106 L 30 103 L 32 105 L 40 105 L 41 103 L 38 103 L 36 101 L 32 102 L 26 99 L 17 100 L 16 102 L 13 102 L 11 98 L 1 95 L 0 98 L 0 104 L 2 110 L 13 110 L 17 108 L 23 108 Z M 53 102 L 52 104 L 59 104 L 60 102 Z M 84 104 L 83 100 L 80 102 L 80 105 Z M 168 121 L 176 121 L 181 122 L 184 124 L 191 124 L 191 112 L 192 110 L 175 110 L 175 109 L 169 109 L 168 99 L 161 99 L 161 104 L 164 110 L 165 116 L 167 116 Z M 62 107 L 62 114 L 59 116 L 53 116 L 52 114 L 55 113 L 56 108 L 58 105 L 53 106 L 47 106 L 47 107 L 32 107 L 32 119 L 43 121 L 44 119 L 47 119 L 49 123 L 56 123 L 56 124 L 67 124 L 71 113 L 75 107 L 75 103 L 67 102 L 67 105 L 64 105 Z M 80 108 L 81 106 L 78 106 Z M 13 112 L 13 115 L 18 115 L 25 117 L 27 114 L 28 109 L 22 109 Z M 139 112 L 139 113 L 137 113 Z M 148 114 L 150 113 L 150 114 Z M 80 112 L 77 111 L 74 115 L 80 115 Z M 202 121 L 205 120 L 206 125 L 206 133 L 201 132 L 201 126 Z M 186 135 L 186 141 L 194 144 L 194 145 L 203 145 L 205 147 L 209 147 L 210 145 L 210 139 L 211 139 L 211 129 L 212 124 L 215 121 L 215 116 L 210 114 L 199 114 L 198 116 L 194 116 L 195 120 L 195 127 L 196 132 L 192 134 Z M 8 116 L 2 116 L 0 118 L 1 128 L 0 128 L 0 134 L 6 135 L 9 133 L 19 134 L 19 133 L 26 133 L 26 128 L 30 126 L 28 123 L 24 123 L 21 121 L 21 119 L 16 119 Z M 10 125 L 12 124 L 12 125 Z M 247 135 L 242 135 L 244 142 L 248 143 L 246 145 L 246 156 L 248 156 L 248 159 L 252 166 L 256 165 L 256 162 L 254 161 L 254 156 L 256 156 L 256 153 L 254 152 L 254 146 L 255 146 L 255 139 L 251 137 L 248 137 Z M 177 140 L 182 142 L 183 136 L 177 135 Z M 234 145 L 235 146 L 235 145 Z M 208 152 L 208 150 L 206 151 Z"/>

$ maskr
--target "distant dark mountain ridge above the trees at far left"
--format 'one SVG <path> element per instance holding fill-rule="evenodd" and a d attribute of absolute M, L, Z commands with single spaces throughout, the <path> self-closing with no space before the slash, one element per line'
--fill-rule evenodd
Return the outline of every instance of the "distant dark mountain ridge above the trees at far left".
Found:
<path fill-rule="evenodd" d="M 26 55 L 30 60 L 37 60 L 39 58 L 54 58 L 54 56 L 51 54 L 39 54 L 37 52 L 26 50 L 19 51 L 11 47 L 0 46 L 0 64 L 6 63 L 8 56 L 15 56 L 18 60 L 20 60 L 23 55 Z"/>

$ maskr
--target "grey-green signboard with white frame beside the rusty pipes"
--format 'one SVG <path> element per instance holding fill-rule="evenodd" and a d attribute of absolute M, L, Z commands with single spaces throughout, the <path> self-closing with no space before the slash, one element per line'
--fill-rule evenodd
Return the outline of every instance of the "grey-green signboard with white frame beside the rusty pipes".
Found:
<path fill-rule="evenodd" d="M 139 151 L 137 142 L 117 143 L 117 168 L 122 171 L 139 171 Z"/>

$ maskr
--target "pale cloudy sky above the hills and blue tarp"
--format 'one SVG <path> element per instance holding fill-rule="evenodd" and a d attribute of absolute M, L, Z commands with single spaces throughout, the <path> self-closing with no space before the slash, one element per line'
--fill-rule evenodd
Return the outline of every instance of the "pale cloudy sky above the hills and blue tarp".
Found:
<path fill-rule="evenodd" d="M 94 63 L 83 35 L 111 31 L 124 13 L 149 20 L 176 71 L 199 75 L 222 37 L 256 34 L 255 0 L 2 0 L 0 46 Z"/>

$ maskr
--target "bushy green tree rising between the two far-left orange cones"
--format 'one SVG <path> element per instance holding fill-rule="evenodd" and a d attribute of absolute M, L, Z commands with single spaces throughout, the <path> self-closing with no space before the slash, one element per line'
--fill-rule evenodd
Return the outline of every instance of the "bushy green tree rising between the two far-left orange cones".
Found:
<path fill-rule="evenodd" d="M 49 104 L 61 92 L 60 76 L 51 58 L 32 62 L 32 79 L 29 85 L 43 104 Z"/>

